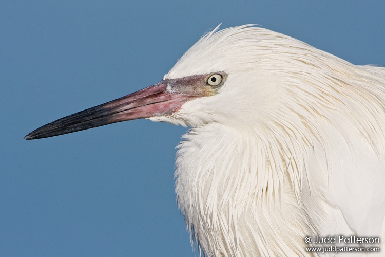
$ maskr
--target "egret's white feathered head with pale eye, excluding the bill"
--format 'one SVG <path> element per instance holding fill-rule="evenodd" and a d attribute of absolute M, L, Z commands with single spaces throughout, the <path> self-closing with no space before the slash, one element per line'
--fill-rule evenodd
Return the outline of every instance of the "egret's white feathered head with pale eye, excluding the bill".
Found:
<path fill-rule="evenodd" d="M 272 31 L 249 25 L 216 30 L 203 36 L 164 76 L 182 84 L 196 76 L 212 93 L 185 102 L 178 112 L 150 120 L 192 127 L 210 122 L 255 127 L 271 119 L 283 94 L 274 71 L 264 68 L 267 53 L 260 35 Z"/>

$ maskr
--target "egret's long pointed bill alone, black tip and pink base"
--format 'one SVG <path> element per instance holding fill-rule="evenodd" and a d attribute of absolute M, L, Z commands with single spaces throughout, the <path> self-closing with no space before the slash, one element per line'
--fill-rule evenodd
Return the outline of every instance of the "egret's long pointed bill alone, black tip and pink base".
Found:
<path fill-rule="evenodd" d="M 191 96 L 168 93 L 167 81 L 161 81 L 122 98 L 86 109 L 48 123 L 24 139 L 39 139 L 87 130 L 115 122 L 174 113 Z"/>

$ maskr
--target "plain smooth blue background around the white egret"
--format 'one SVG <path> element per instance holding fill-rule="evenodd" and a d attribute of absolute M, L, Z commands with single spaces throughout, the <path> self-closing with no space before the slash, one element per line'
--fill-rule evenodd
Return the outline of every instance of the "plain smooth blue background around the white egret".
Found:
<path fill-rule="evenodd" d="M 185 128 L 23 137 L 158 82 L 221 22 L 385 66 L 383 0 L 56 2 L 0 1 L 0 256 L 194 256 L 174 195 Z"/>

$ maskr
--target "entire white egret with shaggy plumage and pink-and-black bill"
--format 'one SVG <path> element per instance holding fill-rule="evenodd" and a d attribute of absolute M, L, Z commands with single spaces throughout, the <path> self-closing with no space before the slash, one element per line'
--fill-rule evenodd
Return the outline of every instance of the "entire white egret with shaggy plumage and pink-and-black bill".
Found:
<path fill-rule="evenodd" d="M 159 83 L 25 138 L 138 118 L 190 126 L 176 195 L 206 256 L 317 254 L 306 236 L 383 236 L 385 68 L 264 28 L 217 29 Z"/>

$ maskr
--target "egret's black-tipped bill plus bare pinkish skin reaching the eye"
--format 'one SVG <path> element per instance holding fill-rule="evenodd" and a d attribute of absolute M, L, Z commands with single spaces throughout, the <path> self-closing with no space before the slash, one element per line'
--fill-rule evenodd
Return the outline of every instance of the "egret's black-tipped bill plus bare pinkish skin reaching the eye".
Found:
<path fill-rule="evenodd" d="M 175 113 L 191 99 L 216 94 L 217 89 L 207 85 L 207 76 L 162 80 L 130 95 L 48 123 L 24 138 L 53 137 L 115 122 Z M 227 75 L 223 73 L 223 76 Z"/>

